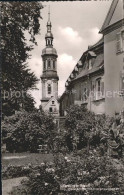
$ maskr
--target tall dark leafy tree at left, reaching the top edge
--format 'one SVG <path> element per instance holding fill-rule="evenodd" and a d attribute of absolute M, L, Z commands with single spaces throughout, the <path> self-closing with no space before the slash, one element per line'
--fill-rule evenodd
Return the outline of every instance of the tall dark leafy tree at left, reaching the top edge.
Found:
<path fill-rule="evenodd" d="M 37 44 L 35 35 L 40 30 L 40 10 L 43 6 L 39 2 L 1 2 L 0 5 L 3 113 L 11 115 L 22 104 L 22 97 L 11 94 L 23 91 L 26 97 L 29 89 L 36 88 L 38 79 L 28 68 L 26 60 L 33 45 Z M 29 43 L 25 32 L 29 34 Z M 24 100 L 26 104 L 26 99 L 32 101 L 28 96 Z"/>

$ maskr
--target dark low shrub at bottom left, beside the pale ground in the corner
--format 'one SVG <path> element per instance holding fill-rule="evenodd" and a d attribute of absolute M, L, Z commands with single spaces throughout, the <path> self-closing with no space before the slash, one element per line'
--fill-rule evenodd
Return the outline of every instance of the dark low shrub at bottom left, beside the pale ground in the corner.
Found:
<path fill-rule="evenodd" d="M 60 185 L 55 179 L 53 170 L 49 165 L 31 167 L 28 179 L 24 180 L 21 186 L 14 188 L 11 195 L 58 195 Z"/>

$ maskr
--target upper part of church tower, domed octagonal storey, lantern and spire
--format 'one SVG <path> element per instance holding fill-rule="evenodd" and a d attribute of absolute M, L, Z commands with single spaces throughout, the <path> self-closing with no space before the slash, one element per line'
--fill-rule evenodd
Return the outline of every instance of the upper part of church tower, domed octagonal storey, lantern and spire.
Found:
<path fill-rule="evenodd" d="M 51 32 L 52 24 L 50 21 L 50 11 L 48 13 L 47 33 L 45 35 L 46 47 L 42 50 L 43 74 L 41 79 L 57 79 L 57 51 L 53 48 L 53 34 Z"/>

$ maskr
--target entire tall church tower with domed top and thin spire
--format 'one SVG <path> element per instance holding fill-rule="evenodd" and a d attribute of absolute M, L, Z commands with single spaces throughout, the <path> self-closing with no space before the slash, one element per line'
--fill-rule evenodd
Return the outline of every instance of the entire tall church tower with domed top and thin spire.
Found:
<path fill-rule="evenodd" d="M 53 48 L 53 34 L 51 32 L 52 24 L 50 21 L 50 10 L 48 13 L 47 33 L 45 35 L 46 47 L 42 50 L 43 72 L 42 82 L 42 108 L 50 113 L 55 113 L 59 109 L 58 104 L 58 80 L 57 75 L 57 51 Z M 52 107 L 50 102 L 52 101 Z M 49 106 L 48 106 L 49 102 Z M 54 105 L 54 106 L 53 106 Z M 56 107 L 55 107 L 56 106 Z"/>

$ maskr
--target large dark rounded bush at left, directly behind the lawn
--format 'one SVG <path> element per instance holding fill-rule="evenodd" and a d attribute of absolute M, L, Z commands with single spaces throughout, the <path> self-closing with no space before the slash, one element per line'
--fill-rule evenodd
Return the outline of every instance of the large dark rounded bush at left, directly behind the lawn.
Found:
<path fill-rule="evenodd" d="M 43 112 L 17 112 L 2 122 L 3 142 L 10 152 L 37 152 L 38 146 L 52 145 L 54 123 Z"/>

